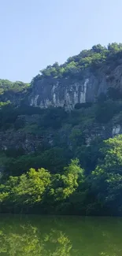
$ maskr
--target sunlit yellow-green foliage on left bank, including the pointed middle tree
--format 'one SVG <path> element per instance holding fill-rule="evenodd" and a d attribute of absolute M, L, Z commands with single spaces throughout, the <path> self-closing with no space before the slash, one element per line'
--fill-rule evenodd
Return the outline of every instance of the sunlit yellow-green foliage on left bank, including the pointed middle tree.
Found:
<path fill-rule="evenodd" d="M 30 169 L 21 176 L 9 176 L 0 185 L 2 210 L 9 210 L 10 207 L 12 212 L 20 209 L 28 212 L 34 206 L 42 211 L 48 210 L 48 204 L 58 206 L 57 202 L 64 202 L 83 182 L 83 169 L 77 159 L 71 161 L 62 175 L 51 175 L 46 169 Z"/>

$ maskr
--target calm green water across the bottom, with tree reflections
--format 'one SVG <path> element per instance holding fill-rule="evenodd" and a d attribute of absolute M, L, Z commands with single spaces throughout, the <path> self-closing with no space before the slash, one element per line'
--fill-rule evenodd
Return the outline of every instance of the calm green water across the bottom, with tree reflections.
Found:
<path fill-rule="evenodd" d="M 122 218 L 0 215 L 0 256 L 122 256 Z"/>

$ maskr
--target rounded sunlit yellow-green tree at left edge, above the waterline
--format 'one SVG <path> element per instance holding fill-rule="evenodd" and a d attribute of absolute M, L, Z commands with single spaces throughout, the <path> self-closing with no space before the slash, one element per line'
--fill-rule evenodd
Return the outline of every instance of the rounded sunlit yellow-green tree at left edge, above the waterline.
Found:
<path fill-rule="evenodd" d="M 0 186 L 0 202 L 31 207 L 43 201 L 46 188 L 50 186 L 50 173 L 46 169 L 30 169 L 21 176 L 9 176 L 9 180 Z"/>

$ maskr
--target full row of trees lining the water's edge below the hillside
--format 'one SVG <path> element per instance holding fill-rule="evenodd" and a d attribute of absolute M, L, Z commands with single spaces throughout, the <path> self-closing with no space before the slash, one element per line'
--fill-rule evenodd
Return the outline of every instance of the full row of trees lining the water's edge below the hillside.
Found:
<path fill-rule="evenodd" d="M 122 214 L 122 135 L 104 141 L 101 158 L 87 173 L 77 159 L 64 173 L 30 169 L 1 176 L 2 213 Z"/>

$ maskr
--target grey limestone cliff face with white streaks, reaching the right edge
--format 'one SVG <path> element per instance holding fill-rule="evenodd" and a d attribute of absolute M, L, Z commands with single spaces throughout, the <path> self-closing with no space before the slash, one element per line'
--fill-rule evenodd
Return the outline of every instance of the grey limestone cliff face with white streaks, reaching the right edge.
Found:
<path fill-rule="evenodd" d="M 109 66 L 95 72 L 86 69 L 80 79 L 38 80 L 28 95 L 28 103 L 40 108 L 61 106 L 70 110 L 76 103 L 94 102 L 109 87 L 122 87 L 122 65 L 111 71 Z"/>

